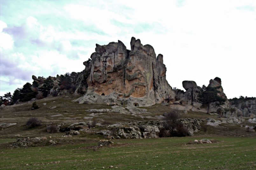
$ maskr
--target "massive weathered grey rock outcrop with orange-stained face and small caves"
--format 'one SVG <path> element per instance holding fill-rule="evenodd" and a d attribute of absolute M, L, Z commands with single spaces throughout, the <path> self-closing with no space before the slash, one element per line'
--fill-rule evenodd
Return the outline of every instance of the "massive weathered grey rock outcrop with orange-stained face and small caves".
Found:
<path fill-rule="evenodd" d="M 121 42 L 96 44 L 91 55 L 86 94 L 80 103 L 119 103 L 150 106 L 173 101 L 175 93 L 165 78 L 163 55 L 132 37 L 131 50 Z"/>

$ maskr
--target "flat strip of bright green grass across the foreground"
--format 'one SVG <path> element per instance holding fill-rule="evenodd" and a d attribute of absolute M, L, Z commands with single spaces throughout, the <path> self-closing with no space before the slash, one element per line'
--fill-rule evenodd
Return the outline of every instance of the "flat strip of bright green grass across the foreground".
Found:
<path fill-rule="evenodd" d="M 194 139 L 198 137 L 113 140 L 113 146 L 102 148 L 85 139 L 73 145 L 1 148 L 0 169 L 256 168 L 255 137 L 214 137 L 218 143 L 187 144 Z"/>

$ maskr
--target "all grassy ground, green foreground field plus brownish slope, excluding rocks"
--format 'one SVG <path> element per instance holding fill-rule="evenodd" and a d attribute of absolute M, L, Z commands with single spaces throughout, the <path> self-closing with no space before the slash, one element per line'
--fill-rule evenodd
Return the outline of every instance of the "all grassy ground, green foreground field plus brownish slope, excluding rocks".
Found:
<path fill-rule="evenodd" d="M 206 125 L 205 119 L 217 119 L 216 115 L 189 111 L 183 118 L 202 119 L 201 131 L 193 137 L 157 139 L 119 139 L 114 145 L 98 147 L 104 139 L 95 135 L 103 127 L 80 132 L 80 135 L 65 138 L 65 133 L 49 134 L 48 123 L 88 121 L 83 119 L 91 113 L 87 109 L 111 108 L 104 104 L 78 104 L 73 96 L 48 97 L 38 100 L 39 109 L 31 110 L 32 102 L 6 107 L 0 112 L 0 122 L 17 125 L 0 129 L 0 169 L 256 169 L 256 132 L 246 132 L 240 125 Z M 46 106 L 43 103 L 47 103 Z M 56 106 L 55 109 L 50 107 Z M 150 116 L 163 115 L 170 107 L 156 104 L 145 107 Z M 62 116 L 52 117 L 55 114 Z M 145 116 L 147 116 L 145 114 Z M 28 129 L 25 126 L 30 117 L 37 117 L 42 126 Z M 132 114 L 105 113 L 93 117 L 92 121 L 111 123 L 142 119 Z M 243 125 L 253 126 L 245 121 Z M 10 144 L 22 137 L 47 137 L 47 140 L 33 147 L 13 148 Z M 51 138 L 50 138 L 51 136 Z M 241 137 L 244 136 L 244 137 Z M 195 139 L 215 139 L 217 143 L 189 144 Z M 50 146 L 49 140 L 58 141 Z M 115 168 L 117 167 L 117 168 Z"/>

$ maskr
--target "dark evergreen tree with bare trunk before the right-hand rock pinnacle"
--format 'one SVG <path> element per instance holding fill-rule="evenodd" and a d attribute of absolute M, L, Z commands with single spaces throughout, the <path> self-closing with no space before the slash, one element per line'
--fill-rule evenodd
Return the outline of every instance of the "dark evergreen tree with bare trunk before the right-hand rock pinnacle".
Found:
<path fill-rule="evenodd" d="M 217 105 L 222 105 L 225 102 L 225 99 L 218 96 L 218 90 L 216 88 L 207 87 L 205 91 L 203 91 L 200 95 L 198 95 L 198 99 L 203 105 L 207 106 L 207 113 L 209 113 L 210 104 L 216 102 Z"/>

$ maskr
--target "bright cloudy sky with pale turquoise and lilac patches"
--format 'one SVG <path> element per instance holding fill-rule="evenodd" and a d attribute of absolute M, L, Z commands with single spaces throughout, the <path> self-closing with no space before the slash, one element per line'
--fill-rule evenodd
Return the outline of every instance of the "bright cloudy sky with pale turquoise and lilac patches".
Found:
<path fill-rule="evenodd" d="M 80 72 L 95 43 L 130 49 L 132 36 L 163 54 L 172 87 L 218 76 L 228 98 L 256 97 L 255 0 L 1 0 L 0 95 Z"/>

